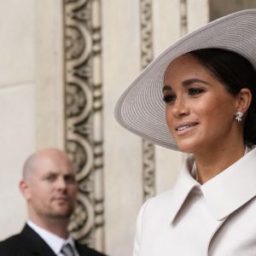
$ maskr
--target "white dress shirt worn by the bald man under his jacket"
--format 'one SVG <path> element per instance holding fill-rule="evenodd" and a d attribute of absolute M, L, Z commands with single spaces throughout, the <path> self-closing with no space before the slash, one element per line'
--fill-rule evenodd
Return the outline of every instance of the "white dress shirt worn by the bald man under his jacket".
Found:
<path fill-rule="evenodd" d="M 37 224 L 33 223 L 31 220 L 27 220 L 26 224 L 28 224 L 32 228 L 32 230 L 37 232 L 38 235 L 42 237 L 42 239 L 49 245 L 49 247 L 54 251 L 54 253 L 57 256 L 63 256 L 63 254 L 61 253 L 61 247 L 67 243 L 69 243 L 73 247 L 75 256 L 79 256 L 79 253 L 75 247 L 75 243 L 71 236 L 69 236 L 65 240 L 60 236 L 56 236 L 55 234 L 49 232 L 48 230 L 42 229 Z"/>

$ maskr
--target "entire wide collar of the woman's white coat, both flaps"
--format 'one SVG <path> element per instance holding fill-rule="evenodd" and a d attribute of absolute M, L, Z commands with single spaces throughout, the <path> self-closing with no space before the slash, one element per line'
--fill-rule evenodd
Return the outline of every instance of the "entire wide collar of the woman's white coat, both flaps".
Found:
<path fill-rule="evenodd" d="M 191 156 L 184 161 L 177 183 L 172 190 L 171 221 L 176 218 L 183 202 L 195 188 L 201 189 L 212 216 L 219 221 L 256 195 L 256 148 L 203 185 L 197 183 L 190 174 L 194 161 Z"/>

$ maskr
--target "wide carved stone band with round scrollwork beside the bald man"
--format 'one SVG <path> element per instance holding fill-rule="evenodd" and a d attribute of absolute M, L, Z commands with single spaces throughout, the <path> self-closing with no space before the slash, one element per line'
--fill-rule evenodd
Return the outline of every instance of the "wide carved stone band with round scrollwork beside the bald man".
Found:
<path fill-rule="evenodd" d="M 63 3 L 66 150 L 79 182 L 70 230 L 75 239 L 103 250 L 101 1 Z"/>

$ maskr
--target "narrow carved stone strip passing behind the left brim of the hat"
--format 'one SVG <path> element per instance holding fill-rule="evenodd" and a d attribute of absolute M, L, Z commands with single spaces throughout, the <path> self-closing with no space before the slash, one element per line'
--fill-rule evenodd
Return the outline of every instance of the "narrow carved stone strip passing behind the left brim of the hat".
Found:
<path fill-rule="evenodd" d="M 140 1 L 142 69 L 153 60 L 153 25 L 151 0 Z M 143 139 L 143 199 L 155 195 L 154 145 Z"/>

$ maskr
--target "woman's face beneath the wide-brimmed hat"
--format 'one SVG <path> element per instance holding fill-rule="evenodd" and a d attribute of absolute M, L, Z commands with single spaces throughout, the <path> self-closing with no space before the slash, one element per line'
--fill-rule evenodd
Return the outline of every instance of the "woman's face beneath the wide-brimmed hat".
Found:
<path fill-rule="evenodd" d="M 181 151 L 205 152 L 236 139 L 236 97 L 193 55 L 166 68 L 163 94 L 166 123 Z"/>

